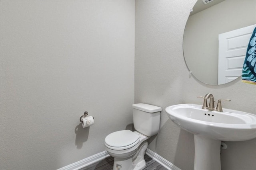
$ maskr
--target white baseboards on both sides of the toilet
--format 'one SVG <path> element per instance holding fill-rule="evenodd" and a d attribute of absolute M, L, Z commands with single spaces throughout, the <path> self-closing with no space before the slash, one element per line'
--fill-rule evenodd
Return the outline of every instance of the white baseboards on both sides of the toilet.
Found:
<path fill-rule="evenodd" d="M 178 168 L 177 166 L 175 166 L 174 164 L 172 164 L 171 162 L 169 162 L 168 160 L 164 159 L 162 156 L 160 156 L 159 154 L 153 152 L 150 149 L 146 150 L 146 154 L 154 159 L 156 162 L 158 162 L 159 164 L 161 164 L 162 166 L 164 166 L 166 169 L 168 170 L 181 170 L 180 168 Z M 94 154 L 88 158 L 84 158 L 82 160 L 79 160 L 78 162 L 75 162 L 73 164 L 70 164 L 68 166 L 64 166 L 58 170 L 79 170 L 81 168 L 84 168 L 90 164 L 93 164 L 95 162 L 98 162 L 100 160 L 105 159 L 106 157 L 110 156 L 108 154 L 108 152 L 105 150 L 103 152 L 100 152 L 98 154 Z"/>

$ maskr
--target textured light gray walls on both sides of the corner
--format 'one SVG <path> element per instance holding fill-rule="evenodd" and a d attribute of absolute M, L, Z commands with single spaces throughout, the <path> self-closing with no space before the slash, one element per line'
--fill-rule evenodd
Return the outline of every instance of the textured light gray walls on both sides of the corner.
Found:
<path fill-rule="evenodd" d="M 193 168 L 194 138 L 165 107 L 210 92 L 256 112 L 255 86 L 189 78 L 182 37 L 194 1 L 136 1 L 135 90 L 134 1 L 0 2 L 0 169 L 57 169 L 102 152 L 106 135 L 130 127 L 134 91 L 135 103 L 163 108 L 149 148 L 182 170 Z M 82 129 L 85 110 L 95 124 Z M 256 168 L 256 140 L 227 144 L 223 170 Z"/>

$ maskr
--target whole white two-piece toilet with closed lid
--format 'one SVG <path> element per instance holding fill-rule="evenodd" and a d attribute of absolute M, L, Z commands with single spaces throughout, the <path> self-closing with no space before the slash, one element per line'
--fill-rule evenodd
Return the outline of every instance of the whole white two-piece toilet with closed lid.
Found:
<path fill-rule="evenodd" d="M 114 157 L 113 170 L 142 170 L 146 166 L 144 154 L 147 139 L 156 135 L 160 126 L 161 107 L 133 104 L 133 122 L 136 131 L 122 130 L 105 138 L 105 149 Z"/>

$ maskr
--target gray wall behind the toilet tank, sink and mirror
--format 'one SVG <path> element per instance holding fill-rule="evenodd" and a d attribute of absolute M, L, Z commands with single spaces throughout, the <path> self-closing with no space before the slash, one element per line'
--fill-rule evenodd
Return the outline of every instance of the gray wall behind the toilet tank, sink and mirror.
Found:
<path fill-rule="evenodd" d="M 193 169 L 194 137 L 168 119 L 165 108 L 175 104 L 202 104 L 196 96 L 212 93 L 216 100 L 229 98 L 224 108 L 256 114 L 256 86 L 241 78 L 226 85 L 210 86 L 189 77 L 183 59 L 182 37 L 195 1 L 136 1 L 135 103 L 163 108 L 160 132 L 149 148 L 182 170 Z M 226 142 L 222 170 L 256 169 L 256 139 Z"/>

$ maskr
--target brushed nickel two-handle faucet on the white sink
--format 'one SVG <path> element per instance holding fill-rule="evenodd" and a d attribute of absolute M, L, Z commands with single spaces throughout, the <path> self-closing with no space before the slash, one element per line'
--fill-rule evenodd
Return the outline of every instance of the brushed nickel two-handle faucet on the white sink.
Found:
<path fill-rule="evenodd" d="M 220 100 L 218 100 L 218 105 L 215 109 L 215 107 L 214 107 L 214 97 L 211 93 L 207 93 L 204 97 L 197 96 L 197 98 L 203 98 L 204 99 L 204 104 L 202 106 L 202 109 L 216 110 L 216 111 L 220 111 L 220 112 L 223 112 L 222 105 L 221 105 L 221 100 L 226 100 L 228 102 L 231 101 L 230 99 L 220 99 Z M 209 107 L 208 107 L 208 104 L 207 104 L 207 99 L 210 99 Z"/>

